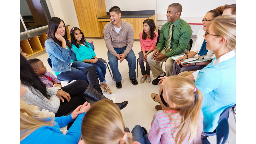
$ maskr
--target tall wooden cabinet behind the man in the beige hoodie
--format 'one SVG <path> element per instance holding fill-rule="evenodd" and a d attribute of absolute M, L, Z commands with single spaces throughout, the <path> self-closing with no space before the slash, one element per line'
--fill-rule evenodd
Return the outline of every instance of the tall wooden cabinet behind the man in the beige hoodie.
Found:
<path fill-rule="evenodd" d="M 103 24 L 98 17 L 106 15 L 105 0 L 73 0 L 81 31 L 85 37 L 102 37 Z"/>

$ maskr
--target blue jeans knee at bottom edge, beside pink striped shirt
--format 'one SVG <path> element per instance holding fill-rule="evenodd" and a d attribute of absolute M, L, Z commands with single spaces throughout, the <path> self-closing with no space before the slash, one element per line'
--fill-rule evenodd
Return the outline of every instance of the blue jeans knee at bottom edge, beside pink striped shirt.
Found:
<path fill-rule="evenodd" d="M 132 137 L 134 141 L 137 141 L 141 144 L 150 144 L 148 140 L 148 135 L 144 132 L 143 128 L 140 125 L 136 125 L 132 129 Z"/>

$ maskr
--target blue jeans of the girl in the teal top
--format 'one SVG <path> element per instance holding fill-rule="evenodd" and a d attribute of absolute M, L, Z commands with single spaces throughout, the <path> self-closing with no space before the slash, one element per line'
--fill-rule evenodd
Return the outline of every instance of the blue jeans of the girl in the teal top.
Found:
<path fill-rule="evenodd" d="M 98 60 L 96 63 L 88 63 L 95 66 L 98 78 L 100 79 L 100 83 L 104 84 L 106 82 L 105 76 L 106 76 L 106 69 L 107 66 L 100 60 Z"/>

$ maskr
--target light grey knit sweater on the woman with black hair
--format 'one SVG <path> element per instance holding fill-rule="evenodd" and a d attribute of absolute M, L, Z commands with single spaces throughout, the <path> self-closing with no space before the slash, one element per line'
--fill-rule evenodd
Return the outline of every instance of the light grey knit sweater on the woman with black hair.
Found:
<path fill-rule="evenodd" d="M 24 88 L 26 88 L 27 92 L 21 98 L 24 101 L 30 102 L 33 105 L 40 106 L 42 109 L 48 110 L 50 112 L 56 113 L 60 107 L 60 99 L 56 96 L 57 91 L 61 89 L 60 87 L 52 87 L 46 88 L 47 93 L 50 95 L 50 100 L 42 95 L 42 93 L 34 88 L 31 88 L 32 91 L 40 95 L 38 97 L 35 95 L 28 86 L 21 84 Z"/>

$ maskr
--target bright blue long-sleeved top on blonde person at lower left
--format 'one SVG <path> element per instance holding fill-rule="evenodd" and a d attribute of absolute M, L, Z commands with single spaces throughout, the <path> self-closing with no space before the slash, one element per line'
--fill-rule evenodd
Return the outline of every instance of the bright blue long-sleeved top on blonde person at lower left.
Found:
<path fill-rule="evenodd" d="M 69 128 L 66 135 L 60 131 L 60 127 L 68 125 L 74 120 L 71 114 L 68 116 L 55 117 L 55 126 L 43 126 L 32 132 L 20 144 L 36 143 L 36 144 L 77 144 L 81 137 L 82 120 L 85 113 L 79 114 L 76 121 Z M 49 120 L 51 118 L 48 118 Z"/>

